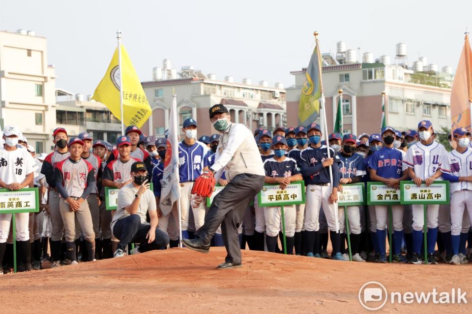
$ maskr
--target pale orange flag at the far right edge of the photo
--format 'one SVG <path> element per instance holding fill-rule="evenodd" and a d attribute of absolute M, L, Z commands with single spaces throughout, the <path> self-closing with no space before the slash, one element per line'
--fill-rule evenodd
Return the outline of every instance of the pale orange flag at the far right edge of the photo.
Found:
<path fill-rule="evenodd" d="M 466 128 L 471 130 L 472 103 L 472 51 L 469 44 L 469 33 L 466 33 L 464 48 L 451 91 L 452 130 Z"/>

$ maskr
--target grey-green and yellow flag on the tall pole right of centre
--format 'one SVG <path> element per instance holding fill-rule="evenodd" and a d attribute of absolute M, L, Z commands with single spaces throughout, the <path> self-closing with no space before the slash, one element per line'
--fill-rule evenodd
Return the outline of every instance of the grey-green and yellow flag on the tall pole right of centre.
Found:
<path fill-rule="evenodd" d="M 322 95 L 322 58 L 318 40 L 311 55 L 310 63 L 305 71 L 305 82 L 301 88 L 300 103 L 298 104 L 298 123 L 307 125 L 318 118 L 320 112 L 320 98 Z"/>

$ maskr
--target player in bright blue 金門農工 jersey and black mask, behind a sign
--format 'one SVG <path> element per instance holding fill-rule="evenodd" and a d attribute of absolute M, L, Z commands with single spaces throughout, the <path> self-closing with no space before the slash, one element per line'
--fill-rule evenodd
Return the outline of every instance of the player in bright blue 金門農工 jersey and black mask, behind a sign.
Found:
<path fill-rule="evenodd" d="M 383 182 L 389 187 L 399 188 L 400 181 L 408 178 L 408 170 L 403 169 L 402 151 L 394 148 L 395 130 L 391 127 L 382 129 L 383 148 L 376 151 L 370 159 L 370 179 L 372 181 Z M 386 263 L 385 237 L 387 225 L 388 206 L 376 205 L 375 216 L 377 219 L 377 245 L 379 247 L 380 258 L 378 262 Z M 406 263 L 407 259 L 401 255 L 403 240 L 403 205 L 392 206 L 393 243 L 390 250 L 393 250 L 392 262 Z"/>

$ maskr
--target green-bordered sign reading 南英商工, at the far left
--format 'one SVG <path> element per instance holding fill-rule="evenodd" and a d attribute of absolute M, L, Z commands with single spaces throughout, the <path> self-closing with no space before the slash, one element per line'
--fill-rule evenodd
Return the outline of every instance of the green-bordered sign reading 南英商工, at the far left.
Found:
<path fill-rule="evenodd" d="M 12 191 L 0 189 L 0 213 L 38 212 L 39 191 L 37 187 Z"/>

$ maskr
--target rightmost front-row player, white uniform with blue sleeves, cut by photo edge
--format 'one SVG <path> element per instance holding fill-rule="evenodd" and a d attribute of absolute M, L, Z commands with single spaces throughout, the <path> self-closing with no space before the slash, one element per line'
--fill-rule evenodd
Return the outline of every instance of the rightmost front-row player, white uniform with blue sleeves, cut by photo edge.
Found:
<path fill-rule="evenodd" d="M 472 149 L 469 146 L 471 132 L 457 128 L 452 132 L 456 149 L 447 153 L 441 165 L 442 177 L 450 181 L 451 192 L 451 242 L 450 264 L 467 263 L 466 241 L 469 228 L 464 230 L 463 217 L 467 207 L 472 217 Z M 471 183 L 471 185 L 469 185 Z"/>

